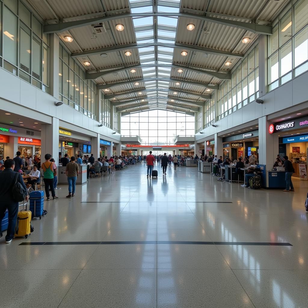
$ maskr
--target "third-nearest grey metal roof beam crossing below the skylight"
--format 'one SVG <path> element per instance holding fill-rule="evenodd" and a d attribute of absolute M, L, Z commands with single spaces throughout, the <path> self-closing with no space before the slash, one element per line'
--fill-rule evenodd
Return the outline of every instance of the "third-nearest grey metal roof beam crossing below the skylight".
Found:
<path fill-rule="evenodd" d="M 101 72 L 97 72 L 97 73 L 86 73 L 85 75 L 85 79 L 96 79 L 105 75 L 109 75 L 112 73 L 118 73 L 121 71 L 126 71 L 132 68 L 143 68 L 143 67 L 171 67 L 171 68 L 181 68 L 184 70 L 188 70 L 188 71 L 193 71 L 196 73 L 201 73 L 201 74 L 207 74 L 210 75 L 212 77 L 216 77 L 219 79 L 231 79 L 231 74 L 230 73 L 219 73 L 216 71 L 208 71 L 208 70 L 202 70 L 202 69 L 198 69 L 198 68 L 194 68 L 194 67 L 189 67 L 189 66 L 185 66 L 185 65 L 179 65 L 179 64 L 135 64 L 132 66 L 122 66 L 121 68 L 116 68 L 116 69 L 111 69 L 111 70 L 105 70 L 105 71 L 101 71 Z"/>

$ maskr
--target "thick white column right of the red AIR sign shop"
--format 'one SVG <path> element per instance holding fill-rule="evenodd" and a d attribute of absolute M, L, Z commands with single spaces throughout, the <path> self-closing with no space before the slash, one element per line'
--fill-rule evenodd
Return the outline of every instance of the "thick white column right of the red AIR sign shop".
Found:
<path fill-rule="evenodd" d="M 51 124 L 42 124 L 41 156 L 44 161 L 45 154 L 51 154 L 55 163 L 59 164 L 59 119 L 52 118 Z"/>

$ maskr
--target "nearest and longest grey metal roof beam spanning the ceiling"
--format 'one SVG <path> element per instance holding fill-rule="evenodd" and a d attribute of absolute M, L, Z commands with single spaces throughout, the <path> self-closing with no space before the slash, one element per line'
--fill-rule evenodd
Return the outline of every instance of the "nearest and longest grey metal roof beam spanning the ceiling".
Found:
<path fill-rule="evenodd" d="M 257 34 L 273 34 L 273 28 L 271 26 L 263 26 L 258 25 L 254 23 L 248 23 L 248 22 L 242 22 L 242 21 L 235 21 L 235 20 L 229 20 L 229 19 L 223 19 L 223 18 L 215 18 L 215 17 L 209 17 L 199 14 L 191 14 L 191 13 L 123 13 L 123 14 L 115 14 L 110 16 L 104 16 L 104 17 L 96 17 L 96 18 L 89 18 L 89 19 L 81 19 L 81 20 L 75 20 L 71 22 L 60 22 L 55 23 L 51 25 L 45 25 L 43 26 L 44 33 L 59 33 L 63 32 L 65 30 L 70 30 L 72 28 L 78 28 L 82 26 L 88 26 L 91 24 L 95 24 L 98 22 L 108 22 L 115 19 L 120 18 L 132 18 L 132 17 L 148 17 L 148 16 L 173 16 L 173 17 L 186 17 L 186 18 L 192 18 L 192 19 L 199 19 L 202 21 L 207 22 L 214 22 L 225 26 L 240 28 L 244 30 L 251 31 L 253 33 Z M 234 16 L 236 18 L 236 16 Z"/>

